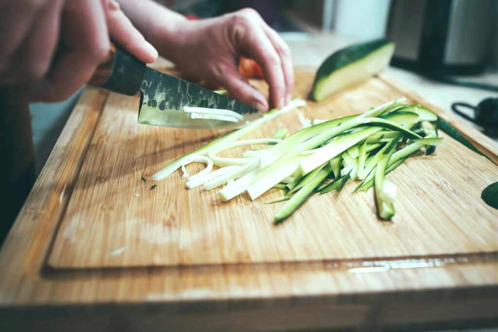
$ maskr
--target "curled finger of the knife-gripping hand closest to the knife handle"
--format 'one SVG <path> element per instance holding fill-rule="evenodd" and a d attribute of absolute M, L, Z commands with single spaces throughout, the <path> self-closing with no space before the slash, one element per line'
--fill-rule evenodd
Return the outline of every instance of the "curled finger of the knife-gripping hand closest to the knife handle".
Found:
<path fill-rule="evenodd" d="M 90 80 L 109 53 L 106 18 L 99 0 L 67 0 L 61 31 L 65 49 L 47 76 L 29 87 L 32 100 L 55 102 L 70 97 Z"/>

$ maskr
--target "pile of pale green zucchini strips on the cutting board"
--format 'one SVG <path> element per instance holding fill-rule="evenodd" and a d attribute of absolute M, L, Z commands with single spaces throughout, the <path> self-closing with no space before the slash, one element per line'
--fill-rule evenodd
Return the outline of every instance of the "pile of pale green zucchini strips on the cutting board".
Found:
<path fill-rule="evenodd" d="M 286 202 L 274 216 L 275 224 L 290 217 L 311 195 L 339 192 L 347 183 L 358 180 L 361 183 L 355 191 L 374 187 L 378 216 L 390 220 L 394 216 L 396 187 L 385 175 L 420 149 L 429 155 L 442 144 L 435 125 L 437 115 L 404 101 L 398 99 L 332 120 L 311 121 L 301 116 L 304 127 L 287 137 L 287 129 L 280 128 L 271 138 L 239 140 L 263 123 L 305 105 L 303 100 L 295 99 L 283 109 L 269 111 L 174 160 L 151 179 L 162 179 L 182 168 L 190 189 L 223 186 L 217 195 L 224 202 L 244 192 L 255 200 L 279 188 L 284 195 L 270 203 Z M 218 156 L 232 147 L 254 144 L 266 145 L 245 151 L 242 158 Z M 206 168 L 189 176 L 185 165 L 191 162 L 205 163 Z M 213 171 L 213 166 L 219 169 Z"/>

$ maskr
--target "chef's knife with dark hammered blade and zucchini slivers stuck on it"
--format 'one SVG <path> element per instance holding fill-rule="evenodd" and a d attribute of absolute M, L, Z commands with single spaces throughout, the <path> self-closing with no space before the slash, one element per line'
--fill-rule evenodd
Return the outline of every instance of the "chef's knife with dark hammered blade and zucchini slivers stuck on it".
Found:
<path fill-rule="evenodd" d="M 236 111 L 245 120 L 262 113 L 235 99 L 161 73 L 111 45 L 111 51 L 89 82 L 120 94 L 133 96 L 140 92 L 138 123 L 179 128 L 238 127 L 243 122 L 191 118 L 185 106 Z"/>

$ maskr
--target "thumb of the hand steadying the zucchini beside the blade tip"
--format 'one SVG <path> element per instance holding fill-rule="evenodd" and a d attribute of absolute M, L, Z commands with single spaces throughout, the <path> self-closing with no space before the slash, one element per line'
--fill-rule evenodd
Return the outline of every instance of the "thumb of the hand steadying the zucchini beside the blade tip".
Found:
<path fill-rule="evenodd" d="M 251 86 L 249 82 L 239 74 L 235 64 L 233 67 L 223 68 L 223 70 L 217 72 L 221 73 L 221 75 L 218 75 L 212 81 L 220 83 L 228 90 L 233 98 L 249 104 L 259 111 L 268 110 L 268 102 L 264 95 Z"/>

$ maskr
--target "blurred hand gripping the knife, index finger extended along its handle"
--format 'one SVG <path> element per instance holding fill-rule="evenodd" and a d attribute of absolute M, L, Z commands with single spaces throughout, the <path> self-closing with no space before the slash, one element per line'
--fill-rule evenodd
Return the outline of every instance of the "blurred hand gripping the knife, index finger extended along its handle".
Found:
<path fill-rule="evenodd" d="M 115 0 L 0 0 L 0 22 L 0 86 L 30 101 L 71 96 L 108 54 L 110 38 L 143 62 L 157 58 Z"/>

